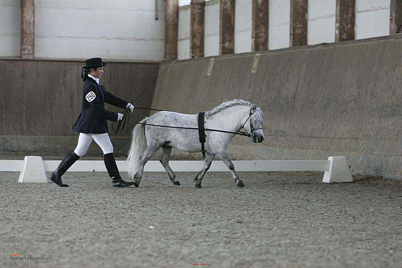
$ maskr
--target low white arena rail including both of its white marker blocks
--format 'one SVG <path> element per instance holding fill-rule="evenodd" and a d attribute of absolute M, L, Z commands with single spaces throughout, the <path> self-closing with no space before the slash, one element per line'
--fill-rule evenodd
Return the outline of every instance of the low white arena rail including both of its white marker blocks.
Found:
<path fill-rule="evenodd" d="M 53 171 L 61 161 L 42 160 L 41 156 L 25 156 L 24 160 L 0 160 L 0 171 L 20 171 L 20 183 L 46 183 L 45 171 Z M 127 171 L 127 161 L 116 161 L 120 171 Z M 345 156 L 330 156 L 328 160 L 238 160 L 236 171 L 325 171 L 324 183 L 352 182 Z M 204 161 L 169 161 L 174 171 L 199 171 Z M 107 171 L 102 160 L 76 161 L 68 171 Z M 148 161 L 144 171 L 165 171 L 159 161 Z M 229 171 L 222 161 L 213 161 L 209 171 Z"/>

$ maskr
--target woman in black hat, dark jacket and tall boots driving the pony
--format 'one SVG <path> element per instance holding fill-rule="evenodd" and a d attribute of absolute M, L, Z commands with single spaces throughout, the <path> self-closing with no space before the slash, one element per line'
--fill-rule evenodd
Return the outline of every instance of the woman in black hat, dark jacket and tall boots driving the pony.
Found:
<path fill-rule="evenodd" d="M 104 73 L 105 65 L 106 63 L 102 61 L 102 58 L 90 58 L 85 61 L 85 66 L 82 67 L 81 78 L 84 81 L 82 111 L 73 126 L 73 130 L 79 132 L 78 144 L 61 161 L 50 177 L 50 180 L 60 187 L 68 187 L 61 181 L 61 176 L 78 158 L 86 154 L 92 139 L 95 140 L 104 153 L 106 169 L 113 180 L 113 186 L 129 187 L 134 184 L 133 182 L 125 182 L 120 176 L 106 122 L 106 120 L 115 122 L 122 120 L 123 114 L 106 110 L 104 103 L 123 109 L 130 108 L 131 112 L 134 111 L 134 106 L 113 96 L 99 84 L 99 78 Z"/>

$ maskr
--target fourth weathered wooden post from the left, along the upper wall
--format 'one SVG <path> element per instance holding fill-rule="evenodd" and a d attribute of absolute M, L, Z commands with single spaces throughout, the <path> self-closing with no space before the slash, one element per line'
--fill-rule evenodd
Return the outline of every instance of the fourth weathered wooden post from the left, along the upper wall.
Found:
<path fill-rule="evenodd" d="M 235 0 L 221 0 L 219 54 L 235 53 Z"/>

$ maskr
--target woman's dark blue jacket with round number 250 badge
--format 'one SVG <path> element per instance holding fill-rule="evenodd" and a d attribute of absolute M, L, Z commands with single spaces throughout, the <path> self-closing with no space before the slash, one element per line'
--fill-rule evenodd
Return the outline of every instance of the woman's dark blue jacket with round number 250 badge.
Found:
<path fill-rule="evenodd" d="M 72 127 L 80 133 L 108 133 L 106 120 L 117 121 L 117 113 L 105 109 L 105 103 L 126 109 L 128 102 L 113 96 L 95 80 L 87 77 L 83 86 L 82 111 Z"/>

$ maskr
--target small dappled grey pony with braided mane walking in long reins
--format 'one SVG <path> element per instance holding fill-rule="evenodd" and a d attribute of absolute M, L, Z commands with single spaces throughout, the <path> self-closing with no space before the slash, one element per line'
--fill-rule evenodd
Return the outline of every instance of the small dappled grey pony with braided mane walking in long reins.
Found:
<path fill-rule="evenodd" d="M 262 131 L 263 122 L 264 115 L 261 109 L 242 100 L 222 103 L 218 107 L 205 113 L 206 129 L 238 132 L 240 129 L 244 128 L 246 134 L 251 137 L 253 142 L 262 142 L 264 140 L 264 133 Z M 198 115 L 163 111 L 143 119 L 141 123 L 197 128 Z M 206 130 L 206 136 L 205 163 L 203 169 L 194 179 L 195 187 L 201 188 L 203 177 L 210 168 L 215 155 L 218 155 L 229 167 L 236 185 L 238 187 L 244 187 L 227 152 L 229 141 L 235 134 Z M 200 152 L 202 150 L 197 130 L 138 124 L 133 130 L 131 147 L 127 159 L 129 175 L 134 179 L 134 185 L 136 187 L 140 185 L 145 163 L 160 147 L 162 147 L 160 162 L 166 169 L 174 185 L 180 185 L 180 183 L 169 166 L 172 147 L 185 152 Z"/>

